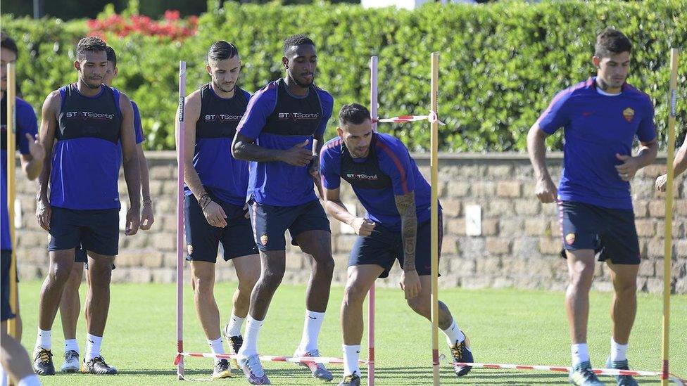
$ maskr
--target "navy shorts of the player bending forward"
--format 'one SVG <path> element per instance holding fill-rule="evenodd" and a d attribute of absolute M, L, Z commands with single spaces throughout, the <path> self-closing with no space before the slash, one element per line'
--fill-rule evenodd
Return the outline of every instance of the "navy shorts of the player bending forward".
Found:
<path fill-rule="evenodd" d="M 439 257 L 441 257 L 441 239 L 443 238 L 443 221 L 439 214 Z M 355 240 L 348 266 L 377 264 L 384 268 L 380 278 L 389 276 L 393 262 L 403 267 L 403 238 L 401 231 L 391 231 L 380 224 L 374 226 L 370 236 L 358 236 Z M 431 221 L 417 225 L 415 239 L 415 269 L 417 274 L 431 275 Z"/>

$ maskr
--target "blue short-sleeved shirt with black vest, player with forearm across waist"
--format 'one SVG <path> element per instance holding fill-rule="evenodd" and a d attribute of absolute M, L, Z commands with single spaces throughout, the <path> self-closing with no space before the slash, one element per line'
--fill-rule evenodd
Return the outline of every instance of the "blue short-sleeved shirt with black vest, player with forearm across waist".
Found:
<path fill-rule="evenodd" d="M 239 131 L 267 149 L 286 150 L 303 143 L 313 147 L 313 136 L 322 136 L 332 116 L 334 98 L 310 86 L 308 95 L 289 94 L 284 79 L 256 91 L 239 122 Z M 285 162 L 251 162 L 248 198 L 265 205 L 296 206 L 317 200 L 308 167 Z"/>

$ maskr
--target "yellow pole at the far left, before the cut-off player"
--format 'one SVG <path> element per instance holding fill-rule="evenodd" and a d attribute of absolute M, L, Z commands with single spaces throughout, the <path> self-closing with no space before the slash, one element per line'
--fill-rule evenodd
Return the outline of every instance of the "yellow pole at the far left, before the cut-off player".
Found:
<path fill-rule="evenodd" d="M 15 198 L 15 157 L 16 157 L 16 71 L 15 63 L 7 63 L 7 210 L 10 219 L 10 308 L 12 313 L 17 311 L 17 255 L 15 252 L 15 229 L 14 229 L 14 198 Z M 16 339 L 17 337 L 17 318 L 8 319 L 7 333 Z"/>

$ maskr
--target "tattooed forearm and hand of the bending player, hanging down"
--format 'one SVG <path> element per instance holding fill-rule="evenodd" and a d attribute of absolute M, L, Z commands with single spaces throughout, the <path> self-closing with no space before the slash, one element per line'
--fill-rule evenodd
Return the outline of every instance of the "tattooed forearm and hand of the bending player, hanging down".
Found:
<path fill-rule="evenodd" d="M 415 270 L 415 243 L 417 239 L 417 214 L 415 213 L 415 192 L 395 195 L 396 209 L 401 214 L 401 239 L 403 240 L 403 276 L 401 288 L 405 298 L 412 299 L 420 294 L 420 276 Z"/>

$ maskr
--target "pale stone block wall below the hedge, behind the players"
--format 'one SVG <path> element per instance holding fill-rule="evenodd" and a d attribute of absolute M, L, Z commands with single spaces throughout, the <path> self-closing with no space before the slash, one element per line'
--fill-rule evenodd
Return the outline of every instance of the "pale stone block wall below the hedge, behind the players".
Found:
<path fill-rule="evenodd" d="M 149 152 L 151 195 L 156 221 L 150 231 L 139 231 L 132 237 L 120 236 L 120 255 L 113 281 L 170 283 L 175 279 L 176 172 L 174 154 Z M 550 172 L 560 175 L 562 155 L 550 153 Z M 427 155 L 417 155 L 422 173 L 429 176 Z M 534 196 L 534 180 L 527 155 L 448 154 L 439 156 L 439 194 L 444 210 L 443 254 L 439 264 L 443 287 L 464 288 L 546 288 L 561 290 L 567 281 L 565 261 L 558 257 L 560 227 L 555 205 L 542 205 Z M 640 236 L 642 262 L 638 286 L 643 291 L 662 291 L 664 194 L 655 192 L 656 176 L 665 170 L 665 157 L 656 165 L 638 173 L 632 183 L 637 231 Z M 18 174 L 19 175 L 19 174 Z M 47 233 L 37 226 L 34 217 L 36 185 L 19 179 L 21 226 L 17 230 L 18 259 L 21 278 L 42 278 L 48 266 Z M 362 207 L 347 184 L 341 184 L 344 202 Z M 672 288 L 687 293 L 687 188 L 681 177 L 676 179 L 674 201 Z M 126 200 L 123 177 L 120 179 L 122 202 Z M 479 205 L 479 236 L 468 236 L 466 208 Z M 122 211 L 122 214 L 124 212 Z M 346 233 L 347 226 L 332 222 L 332 247 L 336 269 L 334 281 L 346 278 L 348 252 L 355 235 Z M 473 229 L 474 231 L 475 229 Z M 469 233 L 473 234 L 473 233 Z M 304 283 L 309 263 L 300 251 L 289 247 L 284 281 Z M 218 264 L 218 280 L 236 280 L 231 263 Z M 397 285 L 401 270 L 396 267 L 383 285 Z M 186 274 L 188 280 L 189 274 Z M 598 264 L 594 286 L 611 290 L 609 273 Z"/>

